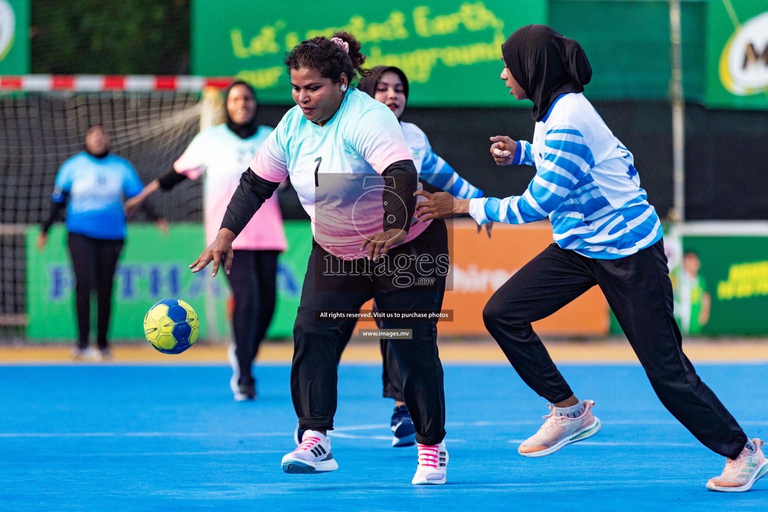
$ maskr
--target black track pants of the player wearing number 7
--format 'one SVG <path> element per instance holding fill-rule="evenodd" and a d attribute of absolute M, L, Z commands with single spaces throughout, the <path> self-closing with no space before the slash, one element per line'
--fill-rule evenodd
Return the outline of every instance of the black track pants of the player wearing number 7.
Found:
<path fill-rule="evenodd" d="M 388 256 L 394 261 L 399 255 L 415 260 L 421 255 L 439 254 L 448 255 L 448 235 L 442 220 L 432 221 L 411 242 L 390 249 Z M 324 271 L 326 263 L 336 269 L 344 265 L 345 270 L 329 275 Z M 435 280 L 429 286 L 393 289 L 386 276 L 365 275 L 365 266 L 366 259 L 343 262 L 313 244 L 293 326 L 290 384 L 299 428 L 332 429 L 336 414 L 336 344 L 344 335 L 347 322 L 318 321 L 316 310 L 356 310 L 372 298 L 382 311 L 442 307 L 445 275 L 432 274 Z M 403 395 L 416 429 L 416 440 L 422 444 L 438 444 L 445 437 L 445 394 L 437 348 L 437 322 L 409 320 L 383 324 L 385 329 L 412 329 L 412 339 L 392 339 L 390 347 L 402 372 Z"/>

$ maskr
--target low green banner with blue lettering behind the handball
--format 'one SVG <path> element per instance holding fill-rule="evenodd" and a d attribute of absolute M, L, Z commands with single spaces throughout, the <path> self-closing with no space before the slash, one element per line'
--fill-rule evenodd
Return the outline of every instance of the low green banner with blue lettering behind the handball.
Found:
<path fill-rule="evenodd" d="M 293 335 L 306 263 L 312 249 L 308 221 L 286 221 L 289 249 L 280 256 L 277 275 L 278 302 L 267 335 Z M 38 251 L 38 227 L 26 235 L 28 339 L 32 342 L 71 340 L 76 337 L 74 276 L 64 226 L 55 226 L 48 246 Z M 200 318 L 200 338 L 230 336 L 230 289 L 223 273 L 190 273 L 189 264 L 204 248 L 204 228 L 199 224 L 174 224 L 164 235 L 152 225 L 133 224 L 115 275 L 111 339 L 142 339 L 147 310 L 166 298 L 184 299 Z M 95 312 L 91 321 L 96 321 Z M 95 323 L 94 323 L 95 325 Z M 95 335 L 95 328 L 92 331 Z"/>

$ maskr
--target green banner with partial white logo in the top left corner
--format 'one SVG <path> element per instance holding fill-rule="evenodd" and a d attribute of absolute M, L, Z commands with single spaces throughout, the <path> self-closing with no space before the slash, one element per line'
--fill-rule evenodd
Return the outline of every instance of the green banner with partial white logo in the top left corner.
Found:
<path fill-rule="evenodd" d="M 0 74 L 29 72 L 29 0 L 0 0 Z"/>

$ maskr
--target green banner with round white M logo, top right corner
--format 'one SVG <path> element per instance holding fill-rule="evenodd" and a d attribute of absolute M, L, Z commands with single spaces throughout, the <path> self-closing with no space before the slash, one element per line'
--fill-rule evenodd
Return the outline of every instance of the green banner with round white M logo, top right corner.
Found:
<path fill-rule="evenodd" d="M 768 109 L 768 1 L 710 0 L 707 106 Z"/>

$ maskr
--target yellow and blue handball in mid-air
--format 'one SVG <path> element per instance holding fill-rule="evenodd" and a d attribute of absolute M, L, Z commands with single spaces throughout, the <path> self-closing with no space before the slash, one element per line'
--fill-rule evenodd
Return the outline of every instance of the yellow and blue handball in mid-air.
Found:
<path fill-rule="evenodd" d="M 200 322 L 192 306 L 177 299 L 163 299 L 144 316 L 144 335 L 164 354 L 180 354 L 197 340 Z"/>

